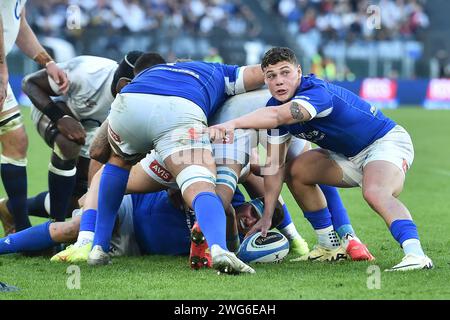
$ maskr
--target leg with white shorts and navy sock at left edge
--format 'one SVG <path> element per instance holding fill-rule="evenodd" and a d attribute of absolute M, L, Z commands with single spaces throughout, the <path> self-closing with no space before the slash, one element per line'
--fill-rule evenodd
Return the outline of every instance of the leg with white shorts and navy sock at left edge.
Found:
<path fill-rule="evenodd" d="M 7 206 L 14 217 L 13 229 L 20 231 L 31 226 L 26 200 L 28 137 L 17 101 L 9 86 L 3 110 L 0 113 L 0 143 L 2 145 L 0 171 L 3 186 L 9 198 Z"/>

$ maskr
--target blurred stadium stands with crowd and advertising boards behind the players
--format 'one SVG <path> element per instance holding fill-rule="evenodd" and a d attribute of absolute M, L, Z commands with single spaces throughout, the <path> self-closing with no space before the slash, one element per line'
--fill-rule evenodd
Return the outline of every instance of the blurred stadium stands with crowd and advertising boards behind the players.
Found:
<path fill-rule="evenodd" d="M 304 73 L 338 82 L 386 107 L 450 101 L 445 0 L 29 0 L 27 18 L 58 61 L 92 54 L 119 60 L 133 49 L 176 58 L 258 63 L 270 46 L 293 48 Z M 20 95 L 32 61 L 9 55 Z M 23 97 L 23 96 L 22 96 Z M 26 100 L 23 101 L 27 104 Z M 429 107 L 443 107 L 430 104 Z"/>

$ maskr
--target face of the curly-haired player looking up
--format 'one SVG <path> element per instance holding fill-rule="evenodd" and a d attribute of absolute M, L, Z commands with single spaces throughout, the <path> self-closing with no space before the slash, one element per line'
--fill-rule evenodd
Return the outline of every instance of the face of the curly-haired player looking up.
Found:
<path fill-rule="evenodd" d="M 301 79 L 300 66 L 287 61 L 271 64 L 264 69 L 264 81 L 272 96 L 281 102 L 289 101 L 297 91 Z"/>

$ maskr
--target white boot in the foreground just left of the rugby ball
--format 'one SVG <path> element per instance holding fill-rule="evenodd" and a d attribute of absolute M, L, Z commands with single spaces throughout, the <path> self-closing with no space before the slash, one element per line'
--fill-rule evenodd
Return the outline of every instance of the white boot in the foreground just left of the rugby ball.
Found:
<path fill-rule="evenodd" d="M 222 249 L 217 244 L 211 247 L 211 257 L 213 268 L 219 271 L 219 273 L 255 273 L 253 268 L 239 260 L 234 253 Z"/>

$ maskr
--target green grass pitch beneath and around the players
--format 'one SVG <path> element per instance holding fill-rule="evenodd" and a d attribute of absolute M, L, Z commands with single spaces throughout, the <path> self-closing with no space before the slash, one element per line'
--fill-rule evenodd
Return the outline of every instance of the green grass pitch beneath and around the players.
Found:
<path fill-rule="evenodd" d="M 422 245 L 433 259 L 428 271 L 387 273 L 402 251 L 384 222 L 368 207 L 360 189 L 341 191 L 352 224 L 377 258 L 368 262 L 255 265 L 255 275 L 218 276 L 213 270 L 194 271 L 187 257 L 115 258 L 93 268 L 80 265 L 80 288 L 69 289 L 68 265 L 47 258 L 0 256 L 0 281 L 19 287 L 0 293 L 3 299 L 449 299 L 450 298 L 450 111 L 420 108 L 386 110 L 411 134 L 415 160 L 401 200 L 419 228 Z M 29 195 L 47 188 L 49 149 L 39 138 L 24 109 L 29 147 Z M 294 221 L 310 246 L 315 236 L 293 198 L 283 195 Z M 0 195 L 4 196 L 3 189 Z M 33 218 L 33 223 L 43 219 Z M 2 229 L 0 229 L 0 235 Z M 380 270 L 380 272 L 378 272 Z M 68 273 L 69 271 L 69 273 Z"/>

